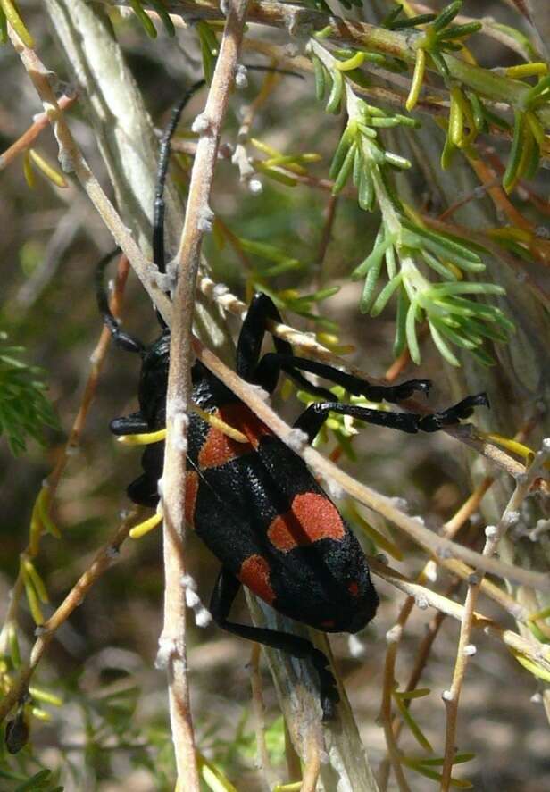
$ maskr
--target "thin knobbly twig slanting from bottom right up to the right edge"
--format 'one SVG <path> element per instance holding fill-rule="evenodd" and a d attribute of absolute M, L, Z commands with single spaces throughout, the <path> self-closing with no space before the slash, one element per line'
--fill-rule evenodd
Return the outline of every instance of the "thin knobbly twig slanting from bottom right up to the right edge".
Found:
<path fill-rule="evenodd" d="M 529 493 L 531 482 L 536 478 L 541 470 L 546 458 L 550 454 L 550 440 L 544 441 L 544 450 L 538 452 L 535 460 L 531 464 L 527 474 L 516 481 L 515 489 L 512 493 L 504 513 L 496 526 L 487 526 L 485 530 L 486 542 L 483 548 L 483 555 L 485 557 L 491 556 L 496 553 L 496 549 L 501 538 L 504 536 L 505 531 L 514 525 L 519 520 L 519 509 Z M 454 745 L 456 737 L 456 720 L 458 716 L 458 702 L 462 690 L 462 682 L 468 664 L 468 657 L 470 652 L 468 647 L 471 646 L 471 627 L 474 621 L 474 608 L 479 596 L 481 581 L 483 579 L 483 572 L 471 579 L 471 584 L 468 588 L 466 600 L 464 602 L 464 614 L 462 616 L 460 636 L 458 639 L 458 647 L 456 652 L 456 661 L 454 663 L 453 681 L 450 690 L 446 690 L 443 694 L 443 699 L 446 704 L 446 739 L 445 739 L 445 761 L 441 771 L 441 792 L 448 792 L 451 783 L 451 773 L 453 771 L 454 762 Z M 474 647 L 475 652 L 475 647 Z"/>

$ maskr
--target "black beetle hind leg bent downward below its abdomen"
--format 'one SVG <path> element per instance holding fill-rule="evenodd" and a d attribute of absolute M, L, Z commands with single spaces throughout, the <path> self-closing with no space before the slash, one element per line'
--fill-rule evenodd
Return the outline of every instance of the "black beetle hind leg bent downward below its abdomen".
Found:
<path fill-rule="evenodd" d="M 280 632 L 277 629 L 264 629 L 262 627 L 250 627 L 246 624 L 236 624 L 228 621 L 229 611 L 238 589 L 241 584 L 229 571 L 221 569 L 220 575 L 216 580 L 216 585 L 212 592 L 210 601 L 210 611 L 212 619 L 222 628 L 227 629 L 234 635 L 256 641 L 263 646 L 272 646 L 280 652 L 287 652 L 293 657 L 310 660 L 319 675 L 321 707 L 323 721 L 331 721 L 335 714 L 335 704 L 339 701 L 336 679 L 329 671 L 329 660 L 327 657 L 306 638 L 290 635 L 287 632 Z"/>

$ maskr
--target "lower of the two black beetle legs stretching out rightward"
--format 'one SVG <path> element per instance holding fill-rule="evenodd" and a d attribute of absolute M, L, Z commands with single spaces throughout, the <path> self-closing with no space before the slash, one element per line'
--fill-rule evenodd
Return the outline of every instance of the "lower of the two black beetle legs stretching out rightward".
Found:
<path fill-rule="evenodd" d="M 462 418 L 469 418 L 474 407 L 489 405 L 487 395 L 479 393 L 476 396 L 466 396 L 462 402 L 454 404 L 440 413 L 420 415 L 418 413 L 387 413 L 384 410 L 371 410 L 356 404 L 339 404 L 329 402 L 326 404 L 310 404 L 307 410 L 300 415 L 295 423 L 296 429 L 302 429 L 310 441 L 315 438 L 326 421 L 330 412 L 351 415 L 360 421 L 385 426 L 388 429 L 398 429 L 402 432 L 415 434 L 416 432 L 437 432 L 446 426 L 460 423 Z"/>

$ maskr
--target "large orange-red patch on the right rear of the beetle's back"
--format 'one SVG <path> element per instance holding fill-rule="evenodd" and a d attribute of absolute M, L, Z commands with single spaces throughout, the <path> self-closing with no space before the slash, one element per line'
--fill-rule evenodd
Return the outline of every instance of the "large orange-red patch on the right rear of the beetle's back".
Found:
<path fill-rule="evenodd" d="M 320 539 L 341 541 L 346 534 L 337 508 L 329 498 L 316 492 L 296 495 L 290 511 L 279 514 L 267 531 L 271 544 L 283 553 L 312 545 Z"/>

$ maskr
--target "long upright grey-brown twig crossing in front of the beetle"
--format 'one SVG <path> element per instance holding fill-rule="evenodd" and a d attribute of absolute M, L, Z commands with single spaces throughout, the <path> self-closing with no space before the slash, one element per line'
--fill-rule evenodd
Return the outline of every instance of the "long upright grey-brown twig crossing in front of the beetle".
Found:
<path fill-rule="evenodd" d="M 166 398 L 167 439 L 162 475 L 164 515 L 164 623 L 160 652 L 169 679 L 171 733 L 178 767 L 178 784 L 186 792 L 198 792 L 195 741 L 187 687 L 185 645 L 186 597 L 183 543 L 185 538 L 185 471 L 187 410 L 191 397 L 191 327 L 195 308 L 196 275 L 204 232 L 212 225 L 209 207 L 221 124 L 237 68 L 246 18 L 247 0 L 233 0 L 221 41 L 204 112 L 197 117 L 199 134 L 191 171 L 187 211 L 177 254 L 178 285 L 174 296 L 170 372 Z"/>

